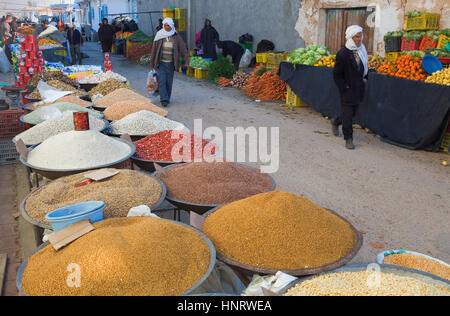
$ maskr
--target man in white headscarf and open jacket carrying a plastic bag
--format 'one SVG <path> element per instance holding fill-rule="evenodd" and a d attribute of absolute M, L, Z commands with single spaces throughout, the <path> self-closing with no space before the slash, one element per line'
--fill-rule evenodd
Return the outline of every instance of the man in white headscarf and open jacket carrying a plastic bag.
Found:
<path fill-rule="evenodd" d="M 186 44 L 176 32 L 173 20 L 165 18 L 163 29 L 156 34 L 153 42 L 150 59 L 150 70 L 158 72 L 160 100 L 164 107 L 170 104 L 174 71 L 180 67 L 180 56 L 185 64 L 189 62 Z"/>

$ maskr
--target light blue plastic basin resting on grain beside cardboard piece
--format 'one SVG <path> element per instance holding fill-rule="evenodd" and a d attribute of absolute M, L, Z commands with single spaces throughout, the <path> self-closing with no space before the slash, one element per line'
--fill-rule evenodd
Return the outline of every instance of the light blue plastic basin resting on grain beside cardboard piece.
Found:
<path fill-rule="evenodd" d="M 92 223 L 101 221 L 104 209 L 105 202 L 83 202 L 57 209 L 47 214 L 45 219 L 52 225 L 53 231 L 58 232 L 86 218 L 89 218 Z"/>

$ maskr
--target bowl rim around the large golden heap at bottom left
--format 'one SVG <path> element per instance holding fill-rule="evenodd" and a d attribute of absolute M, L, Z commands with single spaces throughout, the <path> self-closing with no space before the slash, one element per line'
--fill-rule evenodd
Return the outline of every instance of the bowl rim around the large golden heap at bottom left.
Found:
<path fill-rule="evenodd" d="M 203 234 L 203 232 L 199 231 L 198 229 L 196 229 L 196 228 L 194 228 L 192 226 L 189 226 L 187 224 L 184 224 L 184 223 L 180 223 L 180 222 L 176 222 L 176 221 L 172 221 L 172 220 L 168 220 L 168 219 L 165 219 L 165 220 L 166 221 L 170 221 L 170 222 L 172 222 L 174 224 L 181 225 L 183 227 L 189 228 L 191 230 L 194 230 L 195 232 L 197 232 L 205 240 L 205 242 L 206 242 L 206 244 L 208 245 L 208 248 L 209 248 L 210 260 L 209 260 L 208 269 L 206 270 L 206 272 L 203 275 L 203 277 L 197 283 L 195 283 L 189 290 L 187 290 L 186 292 L 184 292 L 184 293 L 182 293 L 180 295 L 180 296 L 186 296 L 186 295 L 189 295 L 189 294 L 195 292 L 203 284 L 203 282 L 205 282 L 209 278 L 209 276 L 211 275 L 211 272 L 213 271 L 214 266 L 216 265 L 216 248 L 214 248 L 214 245 L 211 242 L 211 240 L 209 240 L 209 238 L 205 234 Z M 42 244 L 35 251 L 33 251 L 32 255 L 34 255 L 37 252 L 39 252 L 40 250 L 44 249 L 48 245 L 49 245 L 48 242 Z M 30 259 L 30 257 L 28 257 L 20 265 L 19 271 L 17 272 L 16 286 L 17 286 L 17 289 L 19 290 L 21 296 L 26 296 L 26 293 L 22 289 L 22 279 L 23 279 L 23 273 L 25 272 L 25 269 L 27 267 L 28 260 Z"/>

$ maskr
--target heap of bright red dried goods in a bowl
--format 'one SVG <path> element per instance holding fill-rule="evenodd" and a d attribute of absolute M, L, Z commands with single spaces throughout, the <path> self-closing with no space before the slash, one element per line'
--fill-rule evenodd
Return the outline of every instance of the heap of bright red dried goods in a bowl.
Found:
<path fill-rule="evenodd" d="M 180 133 L 179 131 L 165 130 L 143 138 L 134 145 L 137 158 L 160 162 L 194 161 L 197 157 L 199 159 L 206 158 L 214 155 L 217 151 L 215 144 L 186 131 Z M 174 157 L 172 154 L 175 146 L 179 146 L 176 147 L 179 148 L 177 152 L 179 157 Z M 185 153 L 184 149 L 189 149 L 189 151 Z"/>

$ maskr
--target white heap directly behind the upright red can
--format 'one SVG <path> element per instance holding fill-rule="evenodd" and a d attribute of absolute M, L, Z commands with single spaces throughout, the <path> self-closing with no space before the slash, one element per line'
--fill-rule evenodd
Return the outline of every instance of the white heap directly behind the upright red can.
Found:
<path fill-rule="evenodd" d="M 94 131 L 102 131 L 105 129 L 107 122 L 89 115 L 89 128 Z M 36 145 L 42 143 L 46 139 L 74 130 L 73 112 L 67 111 L 58 120 L 47 120 L 41 124 L 35 125 L 32 128 L 20 133 L 14 137 L 13 141 L 17 142 L 22 139 L 25 145 Z"/>

